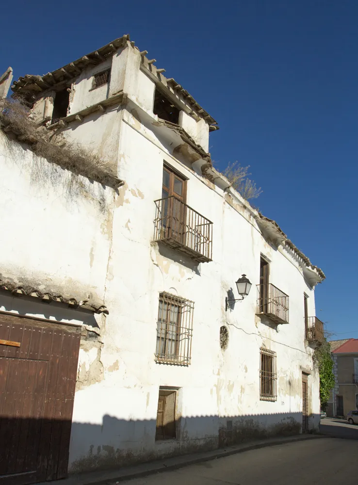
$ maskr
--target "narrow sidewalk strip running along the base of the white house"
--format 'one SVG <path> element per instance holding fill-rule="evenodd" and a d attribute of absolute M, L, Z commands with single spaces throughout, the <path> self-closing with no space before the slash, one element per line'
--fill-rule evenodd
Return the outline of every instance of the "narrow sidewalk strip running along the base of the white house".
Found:
<path fill-rule="evenodd" d="M 215 458 L 222 458 L 235 453 L 243 453 L 249 450 L 256 450 L 266 446 L 284 445 L 285 443 L 292 443 L 293 441 L 303 441 L 306 439 L 324 438 L 322 435 L 297 435 L 288 437 L 269 438 L 263 440 L 255 440 L 246 442 L 240 445 L 228 446 L 220 448 L 219 450 L 212 450 L 205 453 L 192 453 L 173 458 L 164 458 L 163 460 L 151 461 L 149 463 L 142 463 L 132 467 L 123 467 L 119 469 L 92 471 L 88 473 L 81 473 L 71 475 L 65 480 L 54 480 L 51 482 L 42 482 L 37 485 L 106 485 L 115 484 L 131 478 L 143 477 L 152 475 L 161 471 L 175 470 L 188 465 L 194 465 L 203 461 L 213 460 Z"/>

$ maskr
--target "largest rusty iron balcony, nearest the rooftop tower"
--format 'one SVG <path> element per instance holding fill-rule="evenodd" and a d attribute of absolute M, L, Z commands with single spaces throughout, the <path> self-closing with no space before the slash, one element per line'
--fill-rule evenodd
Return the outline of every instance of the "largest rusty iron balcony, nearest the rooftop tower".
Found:
<path fill-rule="evenodd" d="M 155 201 L 154 240 L 197 262 L 212 261 L 212 222 L 174 195 Z"/>

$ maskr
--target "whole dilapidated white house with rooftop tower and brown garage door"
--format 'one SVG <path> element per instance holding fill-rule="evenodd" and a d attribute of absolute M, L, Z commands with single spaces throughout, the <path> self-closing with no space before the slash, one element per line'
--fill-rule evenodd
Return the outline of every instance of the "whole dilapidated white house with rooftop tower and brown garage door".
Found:
<path fill-rule="evenodd" d="M 0 477 L 317 429 L 325 275 L 213 168 L 215 120 L 129 36 L 13 90 L 116 176 L 75 176 L 3 123 Z"/>

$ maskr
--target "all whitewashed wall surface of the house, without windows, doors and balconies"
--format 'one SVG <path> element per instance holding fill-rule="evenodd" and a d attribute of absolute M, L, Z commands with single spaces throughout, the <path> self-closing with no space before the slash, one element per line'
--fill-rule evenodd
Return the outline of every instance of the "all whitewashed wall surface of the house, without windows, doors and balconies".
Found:
<path fill-rule="evenodd" d="M 319 422 L 319 383 L 303 321 L 303 293 L 314 316 L 314 291 L 292 255 L 263 238 L 255 211 L 239 195 L 229 197 L 197 175 L 185 151 L 178 154 L 178 146 L 152 124 L 154 82 L 140 70 L 138 55 L 122 49 L 112 59 L 109 95 L 124 89 L 127 109 L 111 108 L 65 130 L 67 138 L 117 164 L 118 177 L 125 180 L 117 193 L 83 179 L 84 193 L 69 196 L 68 173 L 46 161 L 38 166 L 30 150 L 1 134 L 1 224 L 11 227 L 0 234 L 2 268 L 66 292 L 75 287 L 91 291 L 105 298 L 110 312 L 96 317 L 99 338 L 81 342 L 71 471 L 212 449 L 219 433 L 226 438 L 227 420 L 239 438 L 299 431 L 302 370 L 310 372 L 310 426 Z M 88 76 L 82 78 L 77 85 L 88 88 Z M 76 88 L 79 97 L 75 93 L 71 112 L 88 106 L 81 99 L 87 88 Z M 188 121 L 186 127 L 194 137 L 192 125 Z M 197 129 L 207 145 L 208 127 L 199 122 Z M 188 205 L 213 222 L 212 262 L 197 265 L 152 241 L 164 161 L 188 178 Z M 270 260 L 270 282 L 290 296 L 289 324 L 270 325 L 255 316 L 260 254 Z M 226 311 L 227 291 L 232 288 L 236 295 L 235 281 L 242 273 L 253 284 L 251 292 Z M 161 291 L 195 302 L 189 367 L 154 361 Z M 219 345 L 223 324 L 229 329 L 225 351 Z M 277 352 L 274 403 L 260 401 L 261 346 Z M 154 439 L 160 386 L 179 388 L 177 440 Z"/>

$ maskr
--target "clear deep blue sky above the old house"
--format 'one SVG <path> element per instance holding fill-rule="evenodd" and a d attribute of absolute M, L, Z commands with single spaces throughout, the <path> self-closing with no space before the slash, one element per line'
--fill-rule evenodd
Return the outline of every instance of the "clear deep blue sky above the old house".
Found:
<path fill-rule="evenodd" d="M 251 166 L 254 204 L 326 274 L 317 316 L 358 338 L 358 1 L 20 0 L 0 70 L 45 74 L 124 33 L 218 121 L 218 168 Z"/>

